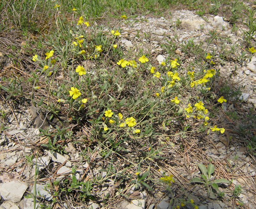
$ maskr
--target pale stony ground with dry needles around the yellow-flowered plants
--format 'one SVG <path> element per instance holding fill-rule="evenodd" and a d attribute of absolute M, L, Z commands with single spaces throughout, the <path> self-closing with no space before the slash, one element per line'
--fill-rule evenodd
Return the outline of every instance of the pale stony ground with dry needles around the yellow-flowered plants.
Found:
<path fill-rule="evenodd" d="M 178 20 L 181 22 L 179 23 Z M 179 23 L 178 28 L 176 27 L 177 22 Z M 242 29 L 244 26 L 241 25 L 237 31 L 231 32 L 231 26 L 223 21 L 221 17 L 209 15 L 202 18 L 192 11 L 179 10 L 171 12 L 171 16 L 168 18 L 156 18 L 150 15 L 140 16 L 129 20 L 128 23 L 120 23 L 120 27 L 123 29 L 120 44 L 127 51 L 140 49 L 145 52 L 149 51 L 156 63 L 161 63 L 165 59 L 162 44 L 167 41 L 175 40 L 176 44 L 180 46 L 191 39 L 194 40 L 195 44 L 203 42 L 202 49 L 205 52 L 215 50 L 215 68 L 220 69 L 221 72 L 220 80 L 216 83 L 216 86 L 221 87 L 228 83 L 234 91 L 240 88 L 241 93 L 238 95 L 239 102 L 236 102 L 236 98 L 234 98 L 233 101 L 224 103 L 224 108 L 217 113 L 219 118 L 217 116 L 215 119 L 218 121 L 222 118 L 218 123 L 221 123 L 226 129 L 224 135 L 220 136 L 214 133 L 192 135 L 190 141 L 183 141 L 183 152 L 178 146 L 182 138 L 177 136 L 172 141 L 173 146 L 167 146 L 163 150 L 166 160 L 156 165 L 156 168 L 160 168 L 156 175 L 161 177 L 161 173 L 165 171 L 175 177 L 177 183 L 173 184 L 171 192 L 164 190 L 164 187 L 161 186 L 154 187 L 153 191 L 149 191 L 145 188 L 139 190 L 133 187 L 128 188 L 127 185 L 127 194 L 128 192 L 133 194 L 130 195 L 129 199 L 118 197 L 104 207 L 101 202 L 91 201 L 90 208 L 152 209 L 157 206 L 160 209 L 167 209 L 170 208 L 169 202 L 172 197 L 182 198 L 184 193 L 189 194 L 189 197 L 194 199 L 201 209 L 238 208 L 237 199 L 232 199 L 232 191 L 234 191 L 236 185 L 242 187 L 238 200 L 243 201 L 245 205 L 241 208 L 256 208 L 256 158 L 248 153 L 246 147 L 246 140 L 252 136 L 241 134 L 241 129 L 239 129 L 239 126 L 245 127 L 250 122 L 250 109 L 255 110 L 256 74 L 254 61 L 256 57 L 253 57 L 250 62 L 238 63 L 236 57 L 240 56 L 241 50 L 235 50 L 233 54 L 229 54 L 228 59 L 222 59 L 225 50 L 229 51 L 234 46 L 239 48 L 243 42 Z M 209 31 L 214 29 L 217 29 L 218 36 L 209 42 L 212 37 Z M 4 39 L 8 40 L 8 37 L 0 37 L 2 42 Z M 22 48 L 20 43 L 19 47 Z M 182 52 L 181 48 L 177 49 L 177 54 L 184 58 L 185 61 L 182 64 L 189 66 L 189 63 L 194 62 L 194 58 Z M 236 70 L 235 65 L 237 66 Z M 1 76 L 4 76 L 6 71 L 17 70 L 9 65 L 3 69 Z M 1 84 L 4 85 L 4 83 Z M 31 159 L 31 164 L 27 163 L 25 155 L 34 154 L 35 146 L 48 143 L 48 139 L 38 135 L 40 134 L 38 127 L 41 125 L 35 124 L 33 117 L 36 114 L 44 115 L 44 113 L 34 110 L 30 101 L 21 101 L 17 105 L 9 99 L 1 99 L 0 108 L 7 113 L 9 126 L 7 130 L 2 131 L 0 140 L 0 179 L 2 181 L 0 185 L 2 196 L 0 207 L 30 209 L 33 208 L 32 199 L 24 198 L 24 196 L 33 191 L 36 161 Z M 227 111 L 240 113 L 238 115 L 239 119 L 234 121 L 226 115 Z M 70 128 L 72 129 L 72 127 Z M 87 131 L 89 132 L 89 130 Z M 77 139 L 79 139 L 79 136 L 77 136 Z M 123 146 L 128 150 L 132 149 L 128 143 Z M 106 171 L 101 170 L 104 160 L 97 151 L 92 153 L 91 158 L 86 161 L 79 155 L 81 152 L 79 146 L 75 146 L 68 141 L 65 150 L 68 155 L 51 153 L 45 150 L 40 153 L 42 157 L 38 158 L 37 190 L 46 200 L 51 200 L 52 194 L 46 192 L 44 186 L 49 183 L 49 180 L 61 180 L 64 176 L 70 175 L 72 166 L 77 166 L 76 176 L 80 180 L 87 180 L 99 173 L 103 178 L 107 175 Z M 222 199 L 209 198 L 203 185 L 190 183 L 191 178 L 200 176 L 198 163 L 209 164 L 209 162 L 215 165 L 213 178 L 233 179 L 232 184 L 224 185 L 221 188 L 225 192 Z M 179 185 L 182 185 L 183 190 Z M 95 188 L 94 192 L 101 197 L 110 193 L 110 196 L 113 197 L 117 193 L 117 188 L 118 185 L 109 181 L 102 187 Z M 73 207 L 73 202 L 60 204 L 55 208 L 88 208 L 88 205 Z"/>

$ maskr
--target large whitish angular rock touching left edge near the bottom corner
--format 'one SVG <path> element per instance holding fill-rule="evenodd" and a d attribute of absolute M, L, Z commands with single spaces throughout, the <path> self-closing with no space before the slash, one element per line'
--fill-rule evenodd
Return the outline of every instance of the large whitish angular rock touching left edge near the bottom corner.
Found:
<path fill-rule="evenodd" d="M 27 188 L 27 184 L 14 180 L 2 184 L 0 187 L 0 194 L 4 200 L 19 202 Z"/>

